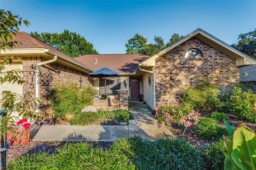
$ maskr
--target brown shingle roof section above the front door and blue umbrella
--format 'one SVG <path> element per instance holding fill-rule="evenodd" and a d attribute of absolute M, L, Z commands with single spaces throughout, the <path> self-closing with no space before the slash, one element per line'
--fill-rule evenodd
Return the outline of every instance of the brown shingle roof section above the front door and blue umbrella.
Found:
<path fill-rule="evenodd" d="M 97 64 L 95 64 L 95 58 L 97 58 Z M 148 58 L 149 56 L 142 54 L 88 54 L 74 59 L 93 71 L 107 67 L 118 73 L 133 74 L 138 64 Z"/>

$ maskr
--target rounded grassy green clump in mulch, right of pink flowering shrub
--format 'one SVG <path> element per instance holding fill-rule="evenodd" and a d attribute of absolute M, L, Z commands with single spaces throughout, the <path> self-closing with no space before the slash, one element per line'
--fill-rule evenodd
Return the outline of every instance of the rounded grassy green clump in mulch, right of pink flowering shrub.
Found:
<path fill-rule="evenodd" d="M 220 126 L 213 118 L 202 117 L 196 125 L 196 135 L 205 140 L 219 139 L 225 134 L 228 134 L 226 128 Z"/>

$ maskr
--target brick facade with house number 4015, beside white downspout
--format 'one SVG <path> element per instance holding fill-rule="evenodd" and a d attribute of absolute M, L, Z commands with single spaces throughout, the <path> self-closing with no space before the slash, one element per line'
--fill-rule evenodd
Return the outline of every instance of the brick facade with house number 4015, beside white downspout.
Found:
<path fill-rule="evenodd" d="M 30 92 L 35 97 L 36 94 L 36 75 L 35 66 L 37 63 L 44 61 L 41 57 L 23 57 L 23 79 L 27 82 L 23 84 L 23 94 Z M 34 66 L 34 69 L 32 67 Z M 56 84 L 68 84 L 70 82 L 80 84 L 82 79 L 82 86 L 93 86 L 93 79 L 88 74 L 70 68 L 59 63 L 50 63 L 39 67 L 39 93 L 40 93 L 40 108 L 50 106 L 47 99 L 50 97 L 51 89 Z"/>

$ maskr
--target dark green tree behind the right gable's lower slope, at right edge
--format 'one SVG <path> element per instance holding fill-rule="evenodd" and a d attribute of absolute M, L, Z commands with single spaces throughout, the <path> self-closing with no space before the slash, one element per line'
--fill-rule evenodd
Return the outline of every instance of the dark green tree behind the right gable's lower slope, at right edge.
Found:
<path fill-rule="evenodd" d="M 241 33 L 238 36 L 238 42 L 231 46 L 256 59 L 256 29 L 247 33 Z"/>

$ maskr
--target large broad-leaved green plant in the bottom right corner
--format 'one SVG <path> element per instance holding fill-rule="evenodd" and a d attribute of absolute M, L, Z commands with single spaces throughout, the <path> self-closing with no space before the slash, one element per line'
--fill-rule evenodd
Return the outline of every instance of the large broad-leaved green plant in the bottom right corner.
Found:
<path fill-rule="evenodd" d="M 225 155 L 225 169 L 256 169 L 256 134 L 246 125 L 240 125 L 236 130 L 226 122 L 226 128 L 231 139 L 224 138 L 227 151 Z"/>

